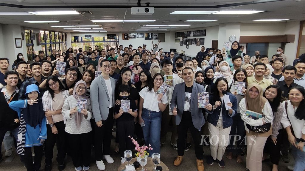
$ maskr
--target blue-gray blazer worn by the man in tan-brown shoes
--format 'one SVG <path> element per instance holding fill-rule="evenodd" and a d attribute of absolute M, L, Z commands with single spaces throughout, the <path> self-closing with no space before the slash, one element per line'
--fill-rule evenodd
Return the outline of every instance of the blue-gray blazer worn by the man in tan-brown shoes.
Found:
<path fill-rule="evenodd" d="M 91 87 L 90 87 L 91 90 Z M 194 82 L 192 95 L 191 95 L 191 115 L 194 127 L 201 130 L 201 127 L 206 122 L 202 109 L 198 109 L 198 92 L 205 92 L 204 86 Z M 173 111 L 174 107 L 177 108 L 176 125 L 179 125 L 182 119 L 182 113 L 185 103 L 185 82 L 175 85 L 173 96 L 170 101 L 170 109 Z"/>

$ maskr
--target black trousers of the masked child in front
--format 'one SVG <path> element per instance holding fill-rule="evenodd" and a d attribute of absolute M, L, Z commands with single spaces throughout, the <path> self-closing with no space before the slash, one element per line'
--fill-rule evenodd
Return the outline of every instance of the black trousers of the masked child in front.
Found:
<path fill-rule="evenodd" d="M 133 137 L 135 133 L 135 122 L 133 120 L 117 121 L 117 137 L 120 144 L 120 155 L 124 157 L 125 150 L 134 149 L 132 140 L 128 137 Z"/>

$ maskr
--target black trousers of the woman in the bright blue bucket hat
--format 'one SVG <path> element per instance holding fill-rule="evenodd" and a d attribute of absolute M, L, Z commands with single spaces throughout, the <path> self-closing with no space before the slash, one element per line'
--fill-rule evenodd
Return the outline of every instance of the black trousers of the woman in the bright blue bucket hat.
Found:
<path fill-rule="evenodd" d="M 35 157 L 33 163 L 31 147 L 24 148 L 24 155 L 21 157 L 23 158 L 25 167 L 27 167 L 27 171 L 36 171 L 41 167 L 42 145 L 34 146 L 34 153 Z"/>

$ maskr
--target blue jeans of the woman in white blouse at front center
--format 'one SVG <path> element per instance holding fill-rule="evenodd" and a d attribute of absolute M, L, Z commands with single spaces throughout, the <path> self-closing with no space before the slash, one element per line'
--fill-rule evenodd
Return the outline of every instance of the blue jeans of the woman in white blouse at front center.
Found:
<path fill-rule="evenodd" d="M 147 152 L 149 152 L 149 157 L 151 157 L 153 153 L 160 154 L 161 112 L 143 108 L 142 119 L 145 124 L 145 126 L 142 127 L 145 144 L 146 146 L 150 144 L 152 147 L 152 150 L 147 150 Z"/>

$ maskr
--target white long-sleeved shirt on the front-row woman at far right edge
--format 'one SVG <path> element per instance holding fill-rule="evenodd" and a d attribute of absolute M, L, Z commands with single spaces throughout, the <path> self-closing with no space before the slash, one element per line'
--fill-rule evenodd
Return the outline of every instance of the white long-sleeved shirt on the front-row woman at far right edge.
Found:
<path fill-rule="evenodd" d="M 305 134 L 305 120 L 300 120 L 297 119 L 294 116 L 294 113 L 296 112 L 297 107 L 295 107 L 293 109 L 292 104 L 290 103 L 290 100 L 287 101 L 287 113 L 288 113 L 288 117 L 289 120 L 287 118 L 287 113 L 285 110 L 285 101 L 283 102 L 283 106 L 284 106 L 284 112 L 283 112 L 283 116 L 282 116 L 282 120 L 281 123 L 283 125 L 284 128 L 291 126 L 290 122 L 292 124 L 292 128 L 293 128 L 293 132 L 294 135 L 296 136 L 296 138 L 302 138 L 302 134 Z"/>

